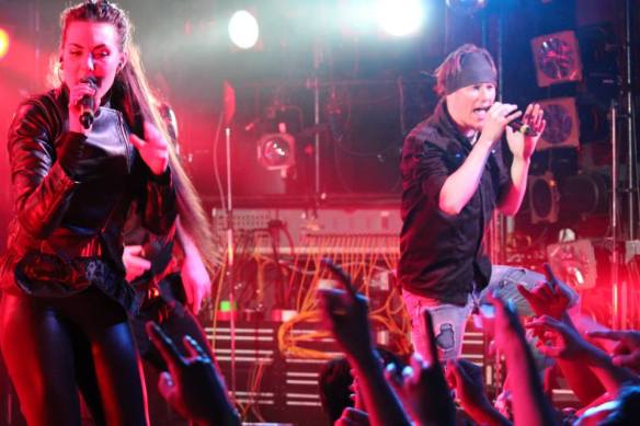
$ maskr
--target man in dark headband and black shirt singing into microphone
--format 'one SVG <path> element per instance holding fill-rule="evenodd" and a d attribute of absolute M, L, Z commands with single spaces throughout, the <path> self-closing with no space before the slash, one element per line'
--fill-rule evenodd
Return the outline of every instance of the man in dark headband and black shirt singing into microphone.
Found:
<path fill-rule="evenodd" d="M 482 239 L 494 208 L 505 215 L 518 210 L 546 123 L 537 104 L 522 116 L 516 105 L 495 102 L 495 66 L 485 49 L 460 46 L 435 76 L 441 101 L 402 148 L 398 276 L 415 350 L 425 353 L 420 313 L 427 308 L 443 359 L 452 359 L 460 354 L 466 320 L 490 280 L 493 286 L 544 279 L 523 268 L 494 267 L 492 274 Z M 510 127 L 521 116 L 528 135 Z M 503 158 L 505 129 L 511 168 Z"/>

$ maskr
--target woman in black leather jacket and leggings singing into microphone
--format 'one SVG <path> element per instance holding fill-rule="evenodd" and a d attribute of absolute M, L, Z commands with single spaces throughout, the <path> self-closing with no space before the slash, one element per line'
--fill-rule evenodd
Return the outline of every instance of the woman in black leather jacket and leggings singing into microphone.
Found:
<path fill-rule="evenodd" d="M 65 10 L 58 65 L 60 84 L 20 105 L 9 130 L 16 216 L 2 258 L 2 356 L 32 426 L 80 425 L 78 389 L 98 424 L 145 425 L 123 226 L 136 206 L 151 232 L 172 232 L 167 128 L 117 5 Z"/>

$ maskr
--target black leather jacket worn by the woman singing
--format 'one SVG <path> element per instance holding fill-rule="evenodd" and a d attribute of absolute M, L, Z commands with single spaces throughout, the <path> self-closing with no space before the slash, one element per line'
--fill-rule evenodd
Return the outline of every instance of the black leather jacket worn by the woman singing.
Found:
<path fill-rule="evenodd" d="M 165 234 L 173 227 L 171 173 L 150 172 L 129 143 L 121 112 L 101 106 L 85 137 L 68 130 L 67 104 L 64 88 L 33 96 L 20 105 L 9 128 L 16 215 L 2 260 L 2 288 L 9 291 L 20 287 L 52 296 L 42 283 L 16 283 L 15 266 L 27 253 L 46 254 L 66 265 L 99 258 L 124 283 L 123 227 L 133 200 L 151 232 Z"/>

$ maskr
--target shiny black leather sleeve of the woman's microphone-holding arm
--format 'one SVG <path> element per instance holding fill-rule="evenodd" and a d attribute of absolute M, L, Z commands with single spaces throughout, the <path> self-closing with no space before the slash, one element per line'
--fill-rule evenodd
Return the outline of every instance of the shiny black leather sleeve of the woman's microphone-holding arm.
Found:
<path fill-rule="evenodd" d="M 37 239 L 59 226 L 77 186 L 55 161 L 53 138 L 60 120 L 55 108 L 31 100 L 19 107 L 9 128 L 14 210 L 23 229 Z"/>

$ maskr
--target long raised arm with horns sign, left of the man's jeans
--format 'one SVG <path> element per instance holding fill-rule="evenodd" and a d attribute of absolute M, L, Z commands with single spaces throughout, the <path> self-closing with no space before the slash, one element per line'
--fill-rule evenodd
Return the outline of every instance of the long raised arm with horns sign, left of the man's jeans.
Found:
<path fill-rule="evenodd" d="M 372 425 L 409 425 L 409 419 L 382 375 L 380 358 L 372 344 L 367 300 L 352 286 L 351 278 L 331 261 L 322 264 L 345 290 L 318 289 L 325 326 L 355 370 L 358 389 Z"/>

